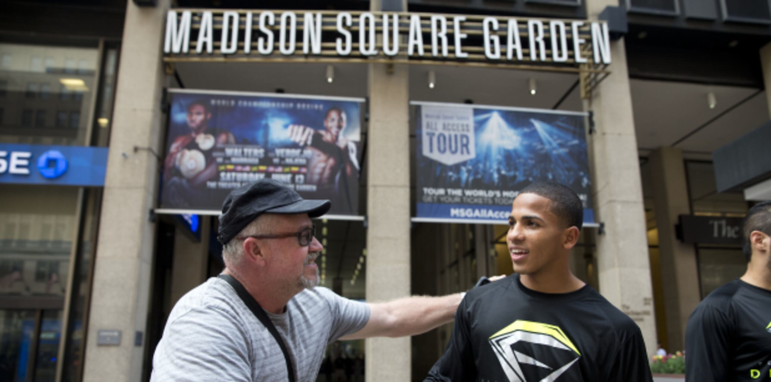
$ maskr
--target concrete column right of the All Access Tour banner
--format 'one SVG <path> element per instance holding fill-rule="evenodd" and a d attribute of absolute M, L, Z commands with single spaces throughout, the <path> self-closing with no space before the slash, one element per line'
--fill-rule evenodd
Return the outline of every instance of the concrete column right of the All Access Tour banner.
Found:
<path fill-rule="evenodd" d="M 618 1 L 588 0 L 589 18 L 597 19 L 608 5 Z M 584 103 L 594 111 L 596 129 L 588 136 L 594 211 L 605 224 L 604 234 L 596 234 L 598 280 L 602 295 L 635 319 L 652 354 L 651 268 L 624 39 L 611 42 L 611 57 L 611 75 Z"/>

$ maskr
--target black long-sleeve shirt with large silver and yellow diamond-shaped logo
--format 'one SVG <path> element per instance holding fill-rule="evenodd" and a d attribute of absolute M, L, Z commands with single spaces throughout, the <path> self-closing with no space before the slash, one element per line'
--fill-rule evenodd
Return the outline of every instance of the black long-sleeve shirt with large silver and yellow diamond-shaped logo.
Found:
<path fill-rule="evenodd" d="M 640 328 L 591 286 L 527 289 L 518 275 L 472 289 L 426 380 L 651 382 Z"/>

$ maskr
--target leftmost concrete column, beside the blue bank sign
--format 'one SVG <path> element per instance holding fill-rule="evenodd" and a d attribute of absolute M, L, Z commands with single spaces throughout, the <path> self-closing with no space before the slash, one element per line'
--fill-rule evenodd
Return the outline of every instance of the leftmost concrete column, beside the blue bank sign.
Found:
<path fill-rule="evenodd" d="M 161 49 L 168 0 L 154 7 L 127 2 L 120 72 L 104 186 L 93 297 L 89 313 L 83 380 L 138 381 L 142 375 L 144 333 L 150 289 L 160 152 Z M 99 330 L 120 330 L 118 346 L 96 345 Z"/>

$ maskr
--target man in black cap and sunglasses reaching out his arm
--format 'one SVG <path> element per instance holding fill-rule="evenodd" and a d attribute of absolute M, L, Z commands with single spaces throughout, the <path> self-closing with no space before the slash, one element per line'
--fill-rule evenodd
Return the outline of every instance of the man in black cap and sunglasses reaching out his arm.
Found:
<path fill-rule="evenodd" d="M 311 218 L 329 207 L 271 179 L 231 192 L 217 236 L 225 270 L 174 306 L 151 380 L 315 380 L 328 343 L 452 321 L 460 293 L 359 303 L 314 288 L 323 247 Z"/>

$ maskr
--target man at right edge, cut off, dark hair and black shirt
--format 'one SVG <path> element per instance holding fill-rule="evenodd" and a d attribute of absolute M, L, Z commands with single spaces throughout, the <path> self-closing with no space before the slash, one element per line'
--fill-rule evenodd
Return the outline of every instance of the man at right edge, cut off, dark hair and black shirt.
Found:
<path fill-rule="evenodd" d="M 688 319 L 686 381 L 771 381 L 771 201 L 749 209 L 742 232 L 747 272 Z"/>

